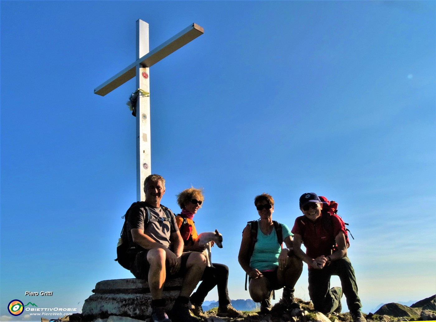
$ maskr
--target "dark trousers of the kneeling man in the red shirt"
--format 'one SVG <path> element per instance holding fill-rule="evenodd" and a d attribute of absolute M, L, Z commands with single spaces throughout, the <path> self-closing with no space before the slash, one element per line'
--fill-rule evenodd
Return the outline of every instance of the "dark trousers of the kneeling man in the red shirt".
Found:
<path fill-rule="evenodd" d="M 309 269 L 309 296 L 315 310 L 327 314 L 333 312 L 339 305 L 340 298 L 337 293 L 330 291 L 330 278 L 339 276 L 342 292 L 347 298 L 350 311 L 362 307 L 357 294 L 356 276 L 348 257 L 330 262 L 323 269 Z"/>

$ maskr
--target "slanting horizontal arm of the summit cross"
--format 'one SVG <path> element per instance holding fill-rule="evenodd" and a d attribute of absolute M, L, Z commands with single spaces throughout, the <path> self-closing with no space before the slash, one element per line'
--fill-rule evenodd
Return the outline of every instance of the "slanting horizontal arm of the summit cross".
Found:
<path fill-rule="evenodd" d="M 136 65 L 141 64 L 143 67 L 150 67 L 156 64 L 158 61 L 172 54 L 177 49 L 183 47 L 188 42 L 194 40 L 198 36 L 201 36 L 204 30 L 198 24 L 191 24 L 184 30 L 176 34 L 174 37 L 165 41 L 160 46 L 150 51 L 140 59 L 136 60 L 133 64 L 124 68 L 118 74 L 105 81 L 102 85 L 94 89 L 94 94 L 104 96 L 109 92 L 112 92 L 115 88 L 123 85 L 129 79 L 132 79 L 136 75 Z"/>

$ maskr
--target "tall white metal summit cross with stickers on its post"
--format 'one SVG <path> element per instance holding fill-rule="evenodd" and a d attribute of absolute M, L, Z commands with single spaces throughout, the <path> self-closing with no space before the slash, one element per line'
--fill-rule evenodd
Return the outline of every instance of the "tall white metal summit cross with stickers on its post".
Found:
<path fill-rule="evenodd" d="M 94 89 L 104 96 L 136 76 L 136 89 L 150 92 L 149 68 L 204 33 L 198 24 L 191 24 L 149 52 L 148 24 L 136 21 L 136 61 Z M 145 200 L 144 180 L 151 174 L 150 97 L 138 95 L 136 102 L 136 196 Z"/>

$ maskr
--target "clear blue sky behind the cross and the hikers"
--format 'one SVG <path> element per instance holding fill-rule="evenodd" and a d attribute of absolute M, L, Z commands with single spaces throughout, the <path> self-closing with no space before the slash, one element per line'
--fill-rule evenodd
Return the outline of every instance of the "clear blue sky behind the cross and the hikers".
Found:
<path fill-rule="evenodd" d="M 302 193 L 339 203 L 364 312 L 435 294 L 434 1 L 0 4 L 1 321 L 32 320 L 13 299 L 80 311 L 96 282 L 132 277 L 113 259 L 136 200 L 135 82 L 93 90 L 134 61 L 137 19 L 150 49 L 204 27 L 150 68 L 152 173 L 175 212 L 204 187 L 194 220 L 223 234 L 232 299 L 249 298 L 237 253 L 262 192 L 288 226 Z"/>

